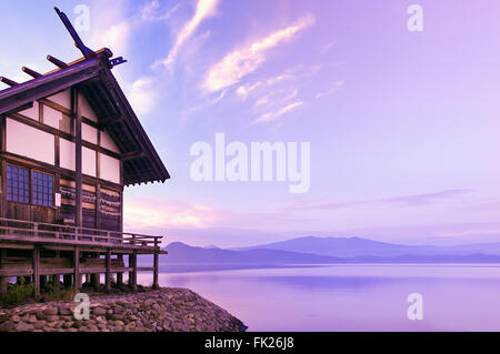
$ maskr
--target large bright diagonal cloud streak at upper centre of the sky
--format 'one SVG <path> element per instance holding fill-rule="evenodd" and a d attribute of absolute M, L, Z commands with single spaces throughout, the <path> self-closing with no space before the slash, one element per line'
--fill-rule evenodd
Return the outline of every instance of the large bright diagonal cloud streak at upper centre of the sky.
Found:
<path fill-rule="evenodd" d="M 210 68 L 202 83 L 202 89 L 210 93 L 240 82 L 243 77 L 256 71 L 266 62 L 268 50 L 283 41 L 290 40 L 312 23 L 314 23 L 314 18 L 311 14 L 304 16 L 284 29 L 274 31 L 248 47 L 230 52 L 220 62 Z"/>

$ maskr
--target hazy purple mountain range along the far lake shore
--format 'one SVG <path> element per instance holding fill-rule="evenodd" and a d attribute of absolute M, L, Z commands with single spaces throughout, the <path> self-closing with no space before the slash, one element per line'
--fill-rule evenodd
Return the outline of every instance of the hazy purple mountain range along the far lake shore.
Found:
<path fill-rule="evenodd" d="M 401 245 L 361 237 L 306 236 L 230 250 L 173 242 L 164 250 L 168 255 L 160 257 L 160 266 L 169 272 L 340 263 L 500 263 L 500 243 Z"/>

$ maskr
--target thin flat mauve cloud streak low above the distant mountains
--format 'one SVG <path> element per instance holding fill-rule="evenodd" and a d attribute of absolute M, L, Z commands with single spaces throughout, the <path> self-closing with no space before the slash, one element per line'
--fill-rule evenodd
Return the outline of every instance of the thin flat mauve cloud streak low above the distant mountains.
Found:
<path fill-rule="evenodd" d="M 360 200 L 360 201 L 347 201 L 347 202 L 334 202 L 334 203 L 313 203 L 313 204 L 297 204 L 292 209 L 294 210 L 336 210 L 358 205 L 390 205 L 397 208 L 403 206 L 418 206 L 434 204 L 442 200 L 452 199 L 463 194 L 470 193 L 471 190 L 443 190 L 433 193 L 426 194 L 414 194 L 414 195 L 402 195 L 386 199 L 373 199 L 373 200 Z"/>

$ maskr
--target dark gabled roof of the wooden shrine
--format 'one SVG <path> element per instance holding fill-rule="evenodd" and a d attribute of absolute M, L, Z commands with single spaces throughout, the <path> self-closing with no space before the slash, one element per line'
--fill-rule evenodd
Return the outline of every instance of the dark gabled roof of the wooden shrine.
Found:
<path fill-rule="evenodd" d="M 77 85 L 97 114 L 98 124 L 120 150 L 123 183 L 164 182 L 170 175 L 111 73 L 111 55 L 109 49 L 101 49 L 89 58 L 60 62 L 61 68 L 46 74 L 34 73 L 34 79 L 23 83 L 11 81 L 11 88 L 0 91 L 0 114 Z"/>

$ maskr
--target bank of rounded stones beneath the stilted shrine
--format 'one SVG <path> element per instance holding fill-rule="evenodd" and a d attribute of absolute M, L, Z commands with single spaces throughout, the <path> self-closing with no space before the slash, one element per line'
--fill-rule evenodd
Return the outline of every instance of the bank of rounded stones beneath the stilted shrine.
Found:
<path fill-rule="evenodd" d="M 0 332 L 242 332 L 226 310 L 188 289 L 90 297 L 89 318 L 77 320 L 80 303 L 58 301 L 0 309 Z"/>

